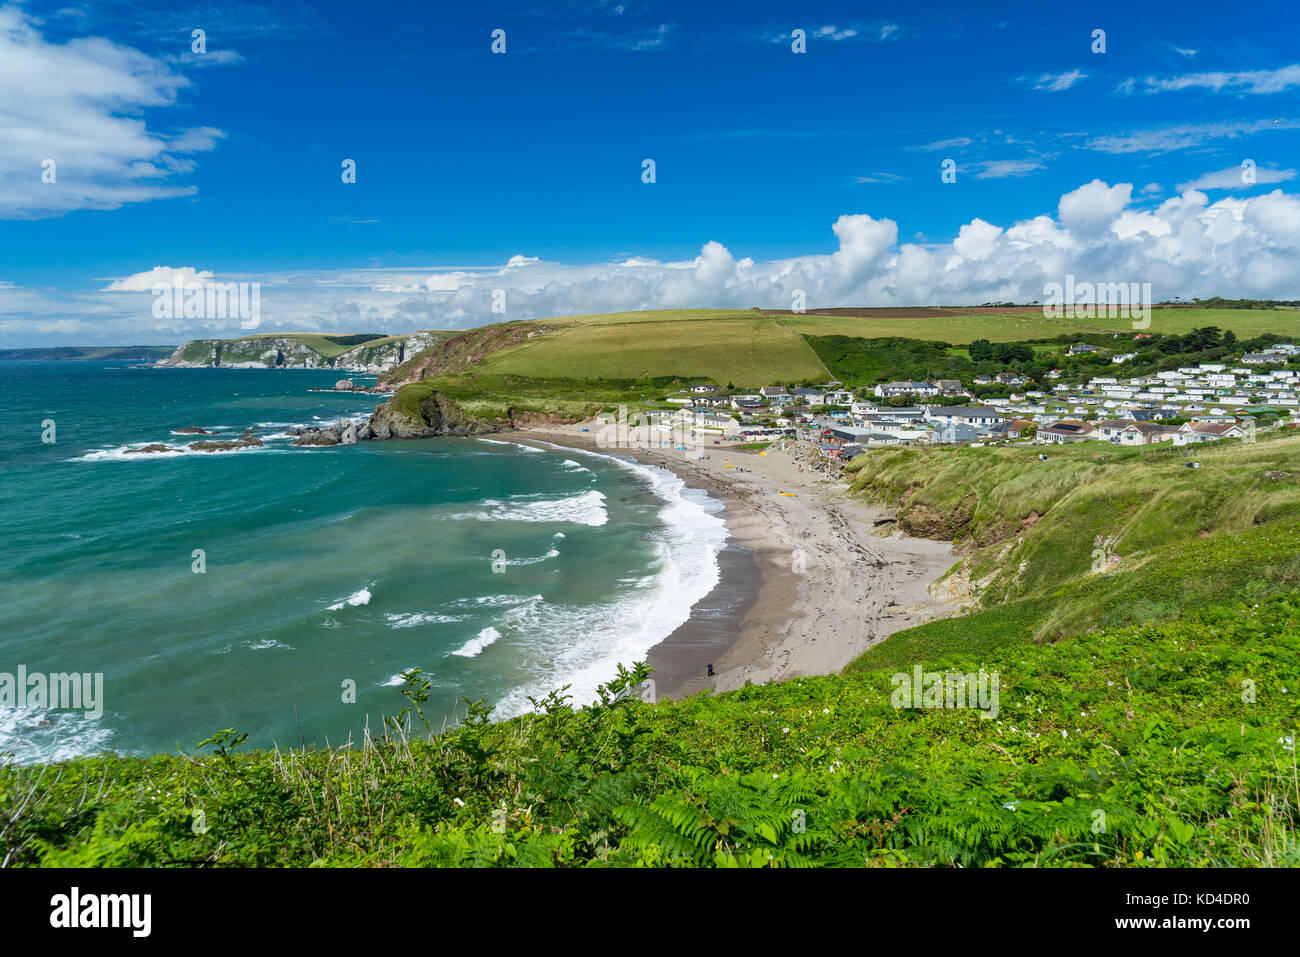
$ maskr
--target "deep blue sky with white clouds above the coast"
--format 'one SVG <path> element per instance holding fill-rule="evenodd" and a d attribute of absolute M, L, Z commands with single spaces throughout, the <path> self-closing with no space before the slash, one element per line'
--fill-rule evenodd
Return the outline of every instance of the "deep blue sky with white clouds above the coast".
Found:
<path fill-rule="evenodd" d="M 1297 27 L 1221 0 L 0 0 L 0 347 L 248 330 L 160 316 L 159 283 L 344 333 L 1066 274 L 1300 298 Z"/>

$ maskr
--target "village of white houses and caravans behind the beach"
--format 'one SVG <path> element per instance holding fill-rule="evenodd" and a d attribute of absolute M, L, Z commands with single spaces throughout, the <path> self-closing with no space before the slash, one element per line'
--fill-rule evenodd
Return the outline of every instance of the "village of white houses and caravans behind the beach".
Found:
<path fill-rule="evenodd" d="M 1075 343 L 1071 355 L 1096 352 Z M 1026 389 L 1032 380 L 1014 372 L 958 380 L 881 382 L 849 390 L 841 382 L 820 386 L 763 386 L 734 393 L 693 385 L 668 395 L 675 411 L 644 413 L 645 424 L 697 442 L 714 443 L 797 437 L 845 462 L 870 449 L 913 445 L 983 446 L 1004 442 L 1066 445 L 1104 442 L 1145 446 L 1196 445 L 1225 438 L 1253 438 L 1300 411 L 1300 369 L 1286 368 L 1300 355 L 1294 343 L 1245 352 L 1236 361 L 1201 363 L 1124 378 L 1092 376 L 1075 384 Z M 1122 365 L 1131 355 L 1115 355 Z M 1048 380 L 1062 377 L 1060 369 Z M 971 389 L 988 385 L 1013 391 L 975 400 Z M 911 404 L 893 404 L 905 400 Z M 965 404 L 963 404 L 963 400 Z"/>

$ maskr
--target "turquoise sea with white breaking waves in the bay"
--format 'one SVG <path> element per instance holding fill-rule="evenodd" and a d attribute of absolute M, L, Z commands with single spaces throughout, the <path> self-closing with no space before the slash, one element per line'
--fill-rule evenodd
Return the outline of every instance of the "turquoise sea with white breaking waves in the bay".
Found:
<path fill-rule="evenodd" d="M 0 363 L 0 672 L 104 676 L 98 718 L 0 707 L 0 753 L 358 741 L 415 667 L 436 723 L 462 697 L 582 702 L 716 584 L 719 507 L 662 469 L 538 441 L 292 447 L 381 402 L 309 391 L 337 378 Z M 122 452 L 248 426 L 265 447 Z"/>

